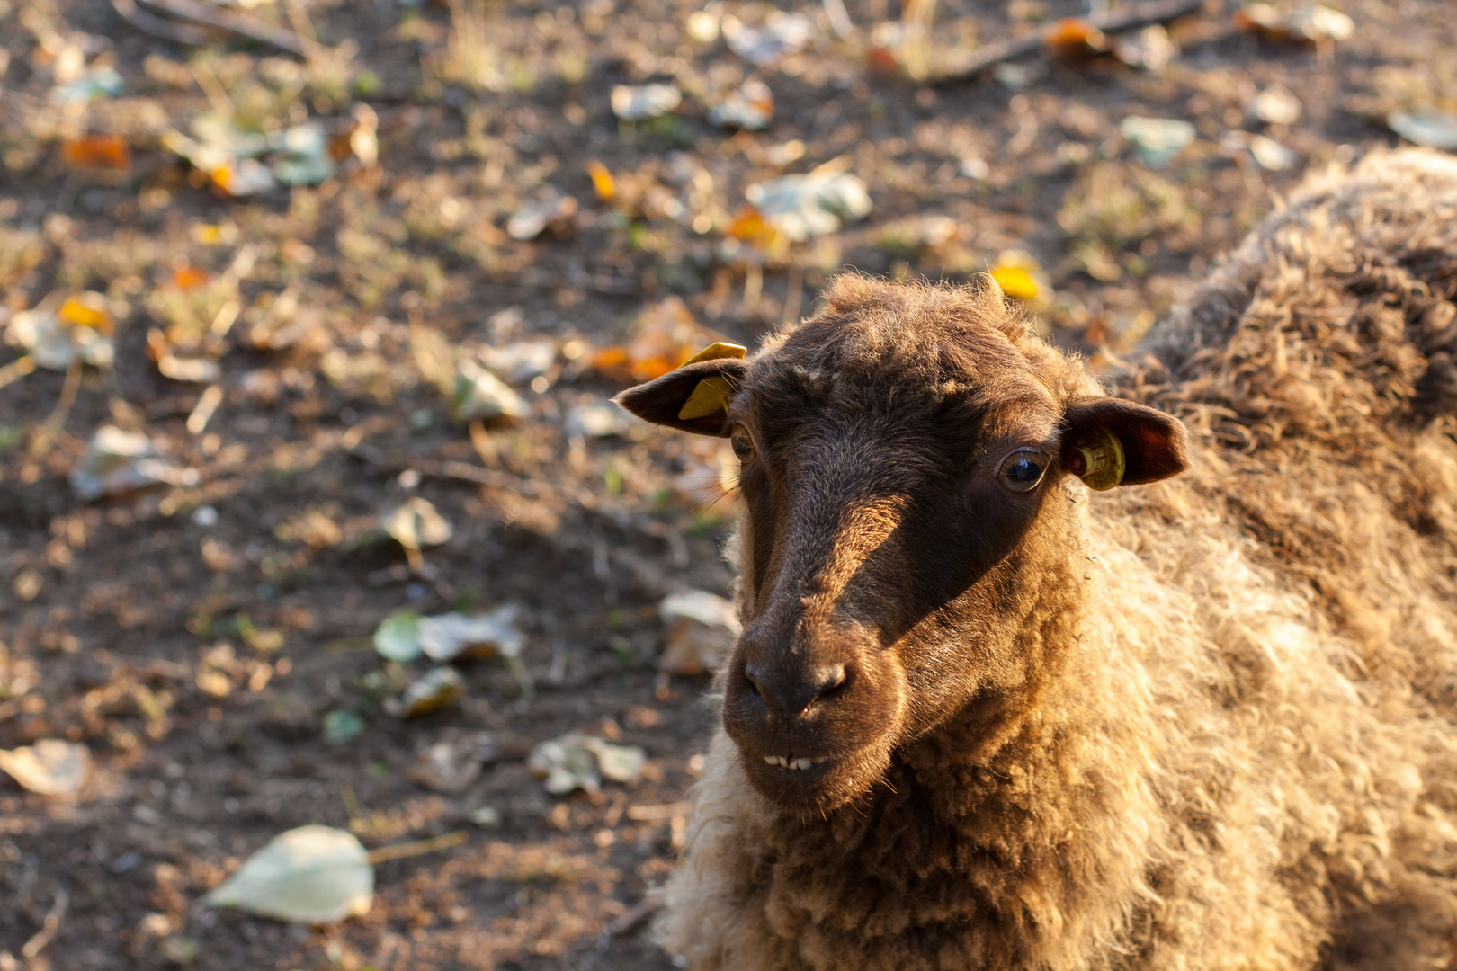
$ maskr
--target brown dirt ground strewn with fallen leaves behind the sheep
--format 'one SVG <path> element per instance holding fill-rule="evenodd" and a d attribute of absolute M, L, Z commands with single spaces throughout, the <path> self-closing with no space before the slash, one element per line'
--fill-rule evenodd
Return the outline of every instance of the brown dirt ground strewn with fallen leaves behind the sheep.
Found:
<path fill-rule="evenodd" d="M 1018 263 L 1055 339 L 1116 357 L 1305 169 L 1396 144 L 1393 109 L 1457 106 L 1447 0 L 1333 0 L 1355 32 L 1319 45 L 1208 0 L 1171 25 L 1179 54 L 1157 71 L 1037 52 L 934 86 L 908 80 L 895 41 L 928 9 L 934 61 L 1083 7 L 847 0 L 839 36 L 825 7 L 791 6 L 813 28 L 803 49 L 759 66 L 724 39 L 730 16 L 769 20 L 755 3 L 239 9 L 307 35 L 303 13 L 318 45 L 300 60 L 168 42 L 101 1 L 0 0 L 0 329 L 82 291 L 115 322 L 114 364 L 12 368 L 0 387 L 0 748 L 60 738 L 93 760 L 68 799 L 0 776 L 0 971 L 673 967 L 624 916 L 672 866 L 715 716 L 705 675 L 659 673 L 657 606 L 730 591 L 731 461 L 718 443 L 583 425 L 631 383 L 610 349 L 682 313 L 673 298 L 752 346 L 842 266 L 965 280 Z M 67 45 L 121 89 L 58 105 Z M 749 76 L 772 124 L 711 124 Z M 676 84 L 676 112 L 613 118 L 613 86 L 648 82 Z M 1271 89 L 1298 116 L 1284 99 L 1260 119 Z M 347 141 L 360 106 L 377 165 L 345 147 L 312 186 L 233 198 L 165 144 L 208 112 L 262 131 L 319 119 Z M 1196 138 L 1150 167 L 1128 116 Z M 1256 135 L 1288 165 L 1259 163 Z M 745 208 L 752 183 L 836 159 L 868 192 L 864 218 L 791 242 Z M 546 194 L 571 201 L 517 239 L 511 217 Z M 237 323 L 219 328 L 229 300 Z M 186 338 L 192 319 L 214 332 Z M 538 338 L 552 354 L 517 389 L 525 416 L 453 419 L 455 361 Z M 186 339 L 219 368 L 201 383 L 159 371 Z M 22 352 L 0 346 L 0 367 Z M 67 476 L 103 425 L 149 435 L 170 482 L 79 498 Z M 379 530 L 415 496 L 455 527 L 418 558 Z M 389 613 L 503 604 L 522 609 L 520 670 L 462 664 L 459 703 L 390 713 L 425 665 L 373 651 Z M 326 738 L 341 712 L 363 732 Z M 525 756 L 577 729 L 644 748 L 643 777 L 548 795 Z M 494 747 L 476 780 L 412 779 L 423 748 L 469 731 Z M 329 927 L 197 904 L 310 823 L 369 847 L 466 840 L 382 863 L 370 911 Z"/>

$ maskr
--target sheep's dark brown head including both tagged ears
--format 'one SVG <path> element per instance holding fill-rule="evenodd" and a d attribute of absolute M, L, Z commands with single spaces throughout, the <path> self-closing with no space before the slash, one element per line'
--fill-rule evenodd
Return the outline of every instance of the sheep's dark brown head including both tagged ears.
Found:
<path fill-rule="evenodd" d="M 749 360 L 618 397 L 743 463 L 723 718 L 755 788 L 800 814 L 865 795 L 953 719 L 1002 731 L 1058 662 L 1068 597 L 1048 590 L 1081 556 L 1065 480 L 1187 467 L 1183 425 L 1106 397 L 994 285 L 842 277 L 826 301 Z"/>

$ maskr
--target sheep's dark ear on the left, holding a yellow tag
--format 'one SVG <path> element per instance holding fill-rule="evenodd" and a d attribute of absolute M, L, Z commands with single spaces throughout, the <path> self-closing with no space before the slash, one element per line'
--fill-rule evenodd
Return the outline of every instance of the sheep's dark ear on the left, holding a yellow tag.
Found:
<path fill-rule="evenodd" d="M 715 344 L 676 371 L 612 400 L 654 425 L 727 438 L 728 402 L 749 367 L 739 360 L 745 352 L 737 344 Z"/>

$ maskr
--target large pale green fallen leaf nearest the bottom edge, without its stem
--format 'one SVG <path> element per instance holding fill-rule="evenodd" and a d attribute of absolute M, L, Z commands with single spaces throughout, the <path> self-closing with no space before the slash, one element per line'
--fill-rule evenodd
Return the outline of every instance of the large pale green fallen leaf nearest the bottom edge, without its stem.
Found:
<path fill-rule="evenodd" d="M 275 836 L 203 903 L 293 923 L 326 924 L 369 913 L 373 898 L 374 868 L 354 834 L 303 825 Z"/>

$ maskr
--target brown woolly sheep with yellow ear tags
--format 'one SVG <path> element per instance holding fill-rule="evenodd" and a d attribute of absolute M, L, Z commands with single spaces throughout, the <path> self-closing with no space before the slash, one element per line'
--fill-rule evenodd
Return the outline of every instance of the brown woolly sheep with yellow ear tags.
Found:
<path fill-rule="evenodd" d="M 1307 181 L 1113 395 L 985 280 L 857 275 L 624 392 L 743 463 L 657 940 L 1457 967 L 1454 298 L 1457 160 L 1410 150 Z"/>

